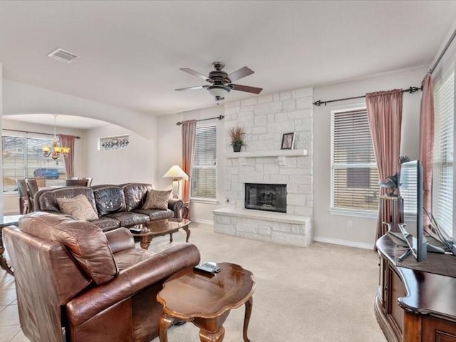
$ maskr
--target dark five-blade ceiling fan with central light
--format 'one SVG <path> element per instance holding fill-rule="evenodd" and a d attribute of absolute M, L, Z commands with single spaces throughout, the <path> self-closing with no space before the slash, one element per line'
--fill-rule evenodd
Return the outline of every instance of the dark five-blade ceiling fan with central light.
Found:
<path fill-rule="evenodd" d="M 224 100 L 225 95 L 227 95 L 231 90 L 245 91 L 247 93 L 259 94 L 262 88 L 242 86 L 240 84 L 233 84 L 232 81 L 237 81 L 239 78 L 243 78 L 254 73 L 253 70 L 244 66 L 237 71 L 234 71 L 228 75 L 226 71 L 223 71 L 225 64 L 222 62 L 212 63 L 213 71 L 209 73 L 209 76 L 204 76 L 202 73 L 198 73 L 189 68 L 180 68 L 180 70 L 190 73 L 190 75 L 197 76 L 202 78 L 204 81 L 211 83 L 207 86 L 196 86 L 196 87 L 187 87 L 175 89 L 177 91 L 182 90 L 195 90 L 195 89 L 206 89 L 211 95 L 215 97 L 216 101 Z"/>

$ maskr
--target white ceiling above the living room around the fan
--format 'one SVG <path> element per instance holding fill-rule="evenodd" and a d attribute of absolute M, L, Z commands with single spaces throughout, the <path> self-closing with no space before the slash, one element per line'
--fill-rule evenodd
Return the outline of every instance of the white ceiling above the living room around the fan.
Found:
<path fill-rule="evenodd" d="M 179 70 L 280 90 L 428 66 L 456 1 L 0 1 L 4 78 L 144 113 L 214 105 Z M 63 48 L 73 63 L 46 55 Z M 356 95 L 356 94 L 355 94 Z M 232 91 L 227 100 L 252 94 Z"/>

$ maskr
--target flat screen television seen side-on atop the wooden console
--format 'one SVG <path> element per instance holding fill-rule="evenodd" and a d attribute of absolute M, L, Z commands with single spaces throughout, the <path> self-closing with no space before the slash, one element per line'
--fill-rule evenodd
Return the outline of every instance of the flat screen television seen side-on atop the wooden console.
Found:
<path fill-rule="evenodd" d="M 399 229 L 408 243 L 408 251 L 399 257 L 399 261 L 412 253 L 416 261 L 423 261 L 427 256 L 427 243 L 423 230 L 423 167 L 419 160 L 403 162 L 398 171 L 399 196 L 402 198 L 400 214 L 402 222 Z"/>

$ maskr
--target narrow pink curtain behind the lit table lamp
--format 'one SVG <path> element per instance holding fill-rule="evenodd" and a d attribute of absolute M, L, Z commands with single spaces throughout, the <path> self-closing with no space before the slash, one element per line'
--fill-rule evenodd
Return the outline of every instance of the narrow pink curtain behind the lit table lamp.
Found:
<path fill-rule="evenodd" d="M 188 180 L 182 180 L 182 202 L 190 202 L 190 180 L 196 132 L 196 120 L 188 120 L 182 123 L 182 170 L 188 175 Z"/>

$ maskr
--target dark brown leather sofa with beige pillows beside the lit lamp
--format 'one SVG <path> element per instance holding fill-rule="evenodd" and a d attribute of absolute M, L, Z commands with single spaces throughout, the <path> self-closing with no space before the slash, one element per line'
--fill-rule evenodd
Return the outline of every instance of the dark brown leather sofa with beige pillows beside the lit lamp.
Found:
<path fill-rule="evenodd" d="M 154 207 L 147 207 L 150 195 L 166 197 Z M 81 195 L 87 201 L 78 201 Z M 92 222 L 103 232 L 118 227 L 131 227 L 135 224 L 150 222 L 155 219 L 182 218 L 182 201 L 169 198 L 170 192 L 154 190 L 152 185 L 145 183 L 126 183 L 122 185 L 94 185 L 93 187 L 59 187 L 44 189 L 36 193 L 35 211 L 52 212 L 55 214 L 69 214 L 71 217 Z M 158 196 L 158 195 L 157 195 Z M 76 203 L 72 206 L 71 202 Z M 62 210 L 65 201 L 69 212 Z M 81 204 L 82 203 L 82 204 Z M 76 211 L 75 211 L 75 208 Z M 94 213 L 87 215 L 88 212 Z"/>

